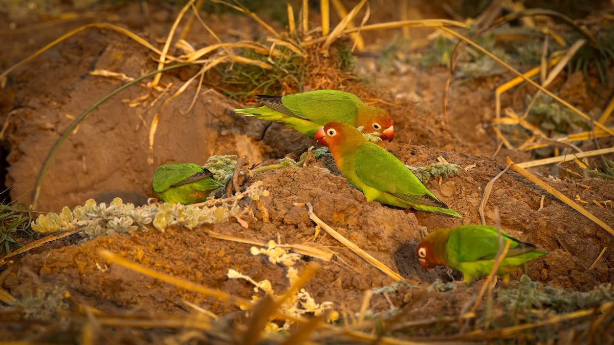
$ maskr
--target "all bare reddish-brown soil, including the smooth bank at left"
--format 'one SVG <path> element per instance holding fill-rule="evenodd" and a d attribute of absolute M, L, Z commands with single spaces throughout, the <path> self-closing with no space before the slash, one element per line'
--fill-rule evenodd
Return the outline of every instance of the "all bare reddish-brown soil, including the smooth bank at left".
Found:
<path fill-rule="evenodd" d="M 137 11 L 135 6 L 126 4 L 118 10 L 119 20 L 130 17 L 126 13 Z M 173 18 L 166 18 L 161 10 L 153 12 L 157 13 L 157 21 L 133 23 L 133 29 L 142 29 L 151 37 L 163 36 Z M 229 20 L 221 21 L 231 25 L 227 23 L 231 22 Z M 68 27 L 53 29 L 64 33 Z M 197 34 L 204 34 L 204 31 L 198 29 L 190 37 L 195 39 Z M 20 36 L 10 37 L 15 47 L 21 45 Z M 24 52 L 40 46 L 34 42 Z M 6 56 L 0 66 L 9 66 L 18 58 L 23 55 Z M 31 200 L 41 162 L 56 139 L 72 119 L 119 87 L 120 82 L 91 76 L 90 71 L 107 69 L 135 77 L 154 68 L 146 48 L 123 35 L 93 29 L 62 42 L 10 75 L 0 109 L 3 119 L 11 114 L 4 138 L 10 147 L 6 185 L 12 186 L 12 199 Z M 165 74 L 163 82 L 181 85 L 192 72 L 195 71 Z M 446 73 L 444 69 L 435 69 L 424 76 L 410 71 L 392 80 L 382 81 L 380 77 L 373 89 L 358 83 L 346 85 L 346 88 L 361 96 L 395 103 L 395 106 L 382 106 L 395 119 L 395 142 L 389 149 L 403 163 L 425 166 L 437 162 L 441 155 L 450 163 L 467 168 L 441 184 L 435 180 L 426 184 L 441 200 L 464 215 L 463 219 L 367 202 L 359 190 L 349 186 L 338 174 L 332 157 L 325 155 L 306 168 L 275 169 L 253 177 L 252 180 L 262 180 L 270 191 L 270 196 L 262 200 L 270 212 L 270 222 L 263 222 L 256 212 L 255 217 L 248 219 L 247 229 L 236 222 L 228 222 L 192 231 L 169 228 L 165 233 L 152 229 L 136 231 L 129 236 L 100 236 L 79 244 L 79 238 L 73 236 L 68 242 L 33 250 L 18 260 L 0 286 L 14 296 L 22 295 L 25 290 L 60 286 L 71 293 L 76 303 L 107 313 L 181 314 L 192 311 L 183 301 L 198 304 L 218 315 L 238 310 L 231 304 L 212 298 L 203 300 L 200 295 L 122 266 L 107 266 L 98 250 L 108 249 L 161 273 L 244 298 L 251 298 L 253 286 L 243 280 L 229 279 L 228 269 L 236 269 L 256 281 L 268 279 L 278 292 L 287 288 L 284 268 L 268 263 L 265 258 L 254 258 L 249 254 L 249 245 L 210 238 L 208 231 L 263 242 L 271 239 L 288 244 L 316 241 L 329 247 L 335 256 L 330 262 L 317 260 L 322 269 L 305 289 L 316 301 L 333 301 L 336 306 L 344 306 L 351 312 L 358 311 L 365 290 L 394 282 L 323 231 L 314 240 L 314 223 L 309 220 L 306 208 L 295 206 L 295 203 L 312 203 L 315 214 L 325 223 L 398 271 L 411 285 L 427 286 L 436 279 L 459 279 L 460 274 L 451 269 L 423 271 L 415 255 L 416 244 L 425 233 L 437 228 L 480 223 L 478 207 L 484 188 L 505 168 L 505 157 L 519 162 L 529 160 L 530 156 L 502 150 L 495 159 L 491 158 L 497 149 L 495 137 L 483 123 L 492 118 L 492 90 L 502 83 L 499 79 L 481 80 L 472 85 L 453 83 L 448 95 L 448 111 L 449 123 L 454 125 L 446 123 L 440 109 L 441 85 Z M 420 78 L 422 81 L 416 86 L 415 80 Z M 578 84 L 575 79 L 571 82 Z M 402 87 L 391 88 L 392 84 Z M 150 179 L 158 165 L 204 163 L 214 154 L 247 155 L 252 163 L 260 163 L 313 144 L 283 126 L 274 124 L 266 130 L 268 123 L 234 114 L 231 109 L 242 105 L 213 89 L 203 87 L 193 108 L 186 112 L 195 92 L 195 86 L 188 88 L 160 111 L 152 151 L 148 142 L 150 123 L 160 109 L 159 104 L 168 95 L 155 106 L 128 107 L 122 99 L 134 100 L 147 93 L 146 87 L 135 85 L 104 103 L 61 146 L 45 177 L 37 208 L 58 212 L 63 206 L 83 204 L 88 198 L 103 202 L 115 196 L 125 202 L 143 204 L 149 196 Z M 420 103 L 397 98 L 402 92 L 416 92 Z M 149 102 L 152 99 L 149 98 Z M 411 144 L 406 144 L 408 142 Z M 545 169 L 535 171 L 548 176 Z M 588 201 L 581 206 L 614 226 L 612 207 L 604 209 L 593 202 L 604 204 L 603 201 L 614 200 L 614 182 L 595 178 L 543 180 L 569 198 L 579 196 Z M 540 207 L 543 196 L 543 207 Z M 515 172 L 507 172 L 494 183 L 484 207 L 489 224 L 495 222 L 495 206 L 499 207 L 503 228 L 523 241 L 550 251 L 527 266 L 524 273 L 533 281 L 581 291 L 614 281 L 612 235 L 571 207 Z M 603 247 L 608 249 L 602 260 L 589 270 Z M 311 260 L 304 257 L 297 264 L 299 271 Z M 521 274 L 523 269 L 512 274 L 512 279 L 519 279 Z M 480 287 L 481 282 L 474 282 L 453 292 L 423 296 L 414 301 L 406 319 L 417 319 L 425 314 L 457 316 Z M 391 296 L 391 302 L 403 306 L 412 296 L 411 291 L 399 292 Z M 389 307 L 381 295 L 371 301 L 374 311 Z"/>

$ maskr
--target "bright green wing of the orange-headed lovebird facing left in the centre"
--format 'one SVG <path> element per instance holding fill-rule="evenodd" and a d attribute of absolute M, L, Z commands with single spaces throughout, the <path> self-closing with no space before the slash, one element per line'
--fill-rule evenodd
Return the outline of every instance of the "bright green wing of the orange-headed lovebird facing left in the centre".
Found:
<path fill-rule="evenodd" d="M 366 185 L 408 204 L 447 207 L 397 157 L 372 142 L 356 150 L 356 174 Z"/>

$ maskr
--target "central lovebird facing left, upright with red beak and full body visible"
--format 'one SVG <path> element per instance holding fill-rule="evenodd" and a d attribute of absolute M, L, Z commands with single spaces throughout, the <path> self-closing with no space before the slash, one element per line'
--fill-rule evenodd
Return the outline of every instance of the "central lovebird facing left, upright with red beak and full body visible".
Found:
<path fill-rule="evenodd" d="M 368 201 L 462 217 L 429 192 L 397 157 L 368 142 L 353 126 L 328 123 L 317 131 L 315 139 L 328 146 L 341 174 Z"/>

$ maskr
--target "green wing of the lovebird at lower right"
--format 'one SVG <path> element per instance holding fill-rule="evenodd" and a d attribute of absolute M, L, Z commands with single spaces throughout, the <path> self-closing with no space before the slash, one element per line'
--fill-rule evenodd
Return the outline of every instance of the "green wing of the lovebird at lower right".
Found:
<path fill-rule="evenodd" d="M 531 250 L 535 246 L 524 243 L 517 238 L 501 231 L 503 245 L 510 243 L 506 257 L 514 257 Z M 456 258 L 458 262 L 473 262 L 477 260 L 492 260 L 499 250 L 499 236 L 497 229 L 486 225 L 461 225 L 450 232 L 446 252 L 448 256 Z"/>

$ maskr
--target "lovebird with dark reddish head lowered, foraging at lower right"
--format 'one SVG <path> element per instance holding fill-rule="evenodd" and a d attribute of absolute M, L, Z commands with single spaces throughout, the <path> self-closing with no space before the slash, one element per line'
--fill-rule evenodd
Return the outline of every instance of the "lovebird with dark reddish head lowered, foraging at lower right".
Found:
<path fill-rule="evenodd" d="M 497 274 L 507 281 L 508 273 L 530 260 L 548 254 L 535 246 L 520 241 L 501 231 L 503 246 L 510 242 L 510 249 L 497 269 Z M 463 274 L 463 281 L 491 273 L 499 250 L 497 229 L 486 225 L 461 225 L 457 228 L 435 230 L 418 244 L 416 253 L 423 269 L 437 265 L 456 268 Z"/>

